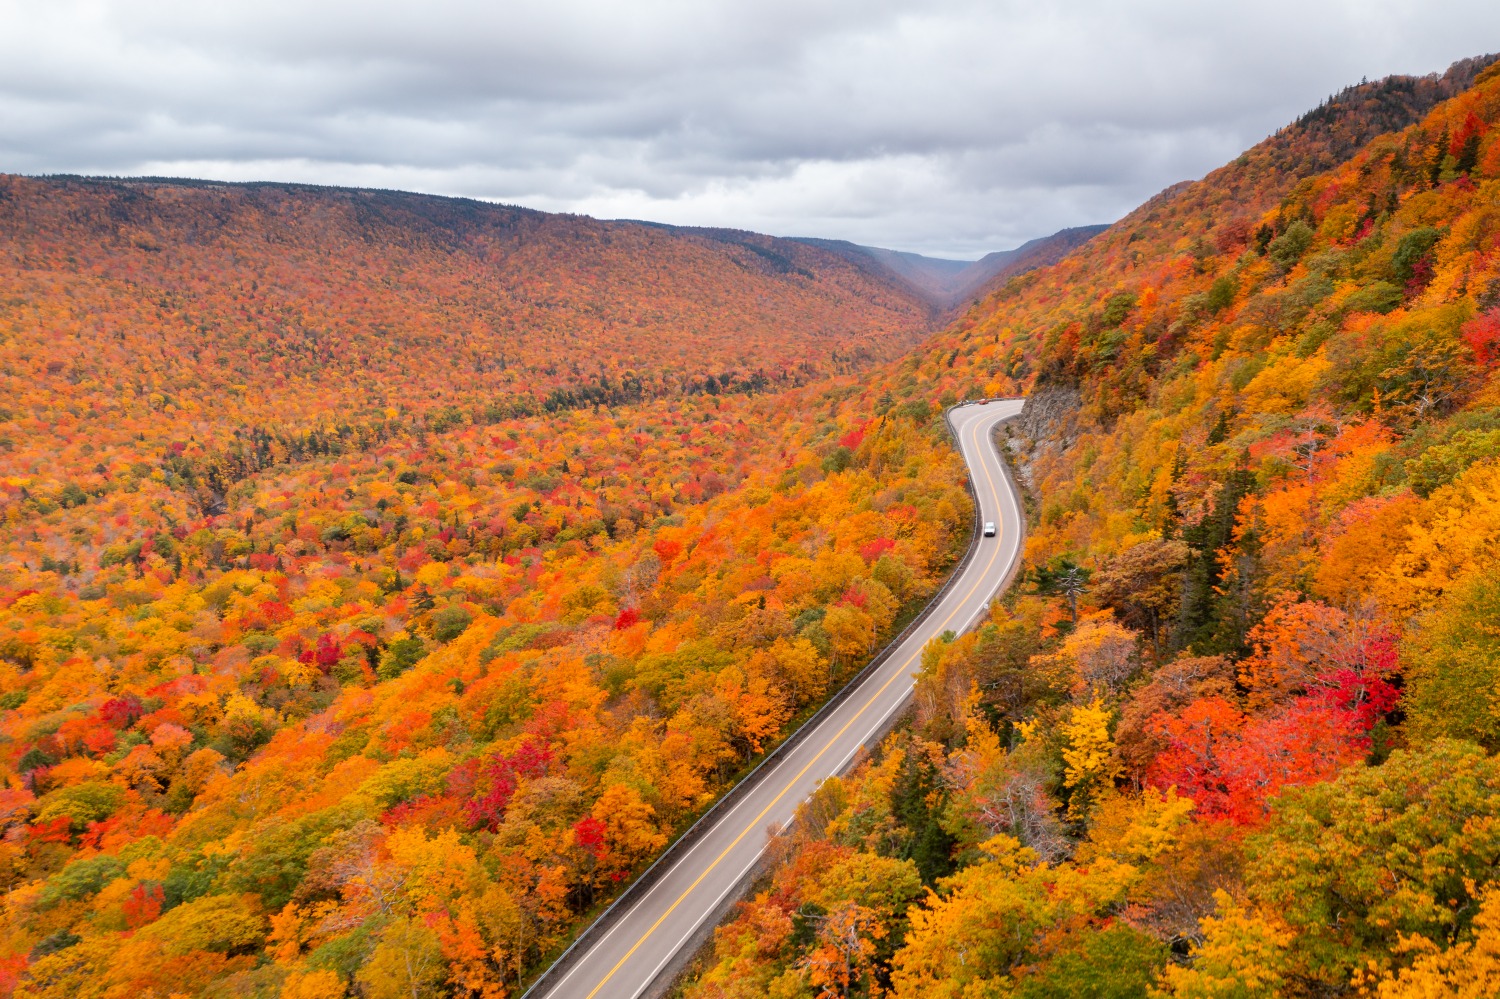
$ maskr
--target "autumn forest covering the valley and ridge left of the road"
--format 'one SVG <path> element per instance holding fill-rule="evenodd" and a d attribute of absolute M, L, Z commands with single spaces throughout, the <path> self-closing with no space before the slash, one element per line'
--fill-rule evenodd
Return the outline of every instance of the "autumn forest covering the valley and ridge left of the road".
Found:
<path fill-rule="evenodd" d="M 3 190 L 4 994 L 510 994 L 963 543 L 837 256 Z"/>

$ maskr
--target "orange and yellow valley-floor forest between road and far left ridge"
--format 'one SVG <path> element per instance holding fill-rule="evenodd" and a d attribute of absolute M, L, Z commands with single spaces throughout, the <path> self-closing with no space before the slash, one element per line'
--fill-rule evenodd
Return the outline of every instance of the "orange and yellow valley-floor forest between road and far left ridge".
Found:
<path fill-rule="evenodd" d="M 220 514 L 154 483 L 22 522 L 20 994 L 386 994 L 411 962 L 513 988 L 952 558 L 930 423 L 783 420 L 766 453 L 770 405 L 466 426 L 278 465 Z M 226 908 L 232 945 L 134 932 Z"/>

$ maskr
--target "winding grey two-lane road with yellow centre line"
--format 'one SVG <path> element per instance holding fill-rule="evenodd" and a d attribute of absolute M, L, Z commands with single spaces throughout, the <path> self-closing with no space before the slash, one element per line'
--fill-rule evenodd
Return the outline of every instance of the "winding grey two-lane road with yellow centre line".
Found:
<path fill-rule="evenodd" d="M 780 759 L 754 771 L 732 808 L 706 826 L 681 856 L 670 860 L 636 898 L 621 898 L 600 926 L 591 927 L 525 999 L 638 999 L 680 964 L 705 922 L 723 910 L 760 860 L 766 834 L 792 820 L 824 780 L 843 772 L 860 750 L 880 736 L 892 714 L 912 694 L 912 675 L 922 646 L 944 632 L 964 632 L 984 612 L 1020 561 L 1023 513 L 990 430 L 1017 416 L 1020 400 L 958 406 L 950 414 L 980 519 L 993 520 L 996 537 L 981 537 L 962 576 L 912 627 L 885 662 L 858 687 L 795 736 Z"/>

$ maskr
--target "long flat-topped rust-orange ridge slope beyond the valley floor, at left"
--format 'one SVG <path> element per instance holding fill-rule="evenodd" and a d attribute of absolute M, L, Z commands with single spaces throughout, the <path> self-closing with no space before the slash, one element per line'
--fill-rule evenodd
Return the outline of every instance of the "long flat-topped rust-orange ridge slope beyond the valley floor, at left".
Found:
<path fill-rule="evenodd" d="M 760 392 L 909 348 L 927 306 L 800 243 L 376 190 L 0 177 L 0 465 L 45 450 Z M 224 405 L 232 400 L 232 405 Z M 394 416 L 388 416 L 393 412 Z M 442 417 L 442 412 L 448 412 Z M 22 416 L 24 414 L 24 416 Z M 124 436 L 111 438 L 111 434 Z"/>

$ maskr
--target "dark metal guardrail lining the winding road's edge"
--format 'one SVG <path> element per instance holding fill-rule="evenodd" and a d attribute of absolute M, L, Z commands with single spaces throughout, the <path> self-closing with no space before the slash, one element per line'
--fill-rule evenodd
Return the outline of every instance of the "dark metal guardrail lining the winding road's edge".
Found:
<path fill-rule="evenodd" d="M 963 447 L 962 442 L 958 441 L 958 434 L 957 430 L 954 430 L 952 426 L 952 418 L 951 418 L 952 411 L 960 406 L 978 405 L 984 402 L 1002 402 L 1002 400 L 1004 399 L 999 398 L 964 399 L 963 402 L 958 402 L 957 405 L 952 405 L 944 411 L 944 428 L 948 430 L 948 436 L 952 438 L 954 446 L 958 447 L 960 454 L 963 453 Z M 1010 468 L 1005 466 L 1004 462 L 1002 468 L 1005 470 L 1006 480 L 1010 480 Z M 969 489 L 969 500 L 974 504 L 974 522 L 970 524 L 969 548 L 964 550 L 963 556 L 954 564 L 952 570 L 948 573 L 948 579 L 945 579 L 942 586 L 939 586 L 938 591 L 927 600 L 927 606 L 924 606 L 916 614 L 916 616 L 914 616 L 906 624 L 906 627 L 902 628 L 898 634 L 896 634 L 890 642 L 886 642 L 885 648 L 876 652 L 870 658 L 870 662 L 866 663 L 864 669 L 850 676 L 849 681 L 843 687 L 840 687 L 831 698 L 828 698 L 828 700 L 825 700 L 818 711 L 808 716 L 808 718 L 802 722 L 800 726 L 796 726 L 796 729 L 790 735 L 782 740 L 782 742 L 776 746 L 776 748 L 766 753 L 748 774 L 741 777 L 734 788 L 726 790 L 718 798 L 718 801 L 710 806 L 708 810 L 704 812 L 704 814 L 700 814 L 696 822 L 693 822 L 693 825 L 687 826 L 687 830 L 684 830 L 681 836 L 672 840 L 668 844 L 668 848 L 662 850 L 662 855 L 657 856 L 650 867 L 640 872 L 640 874 L 638 874 L 634 880 L 632 880 L 630 885 L 620 892 L 620 897 L 615 898 L 608 909 L 600 912 L 592 922 L 584 927 L 579 932 L 579 934 L 573 938 L 573 942 L 568 944 L 567 950 L 558 954 L 556 960 L 554 960 L 544 972 L 537 975 L 536 981 L 532 981 L 531 986 L 526 988 L 526 992 L 520 994 L 520 999 L 536 999 L 548 988 L 550 988 L 552 982 L 556 981 L 564 972 L 567 972 L 573 966 L 573 958 L 579 952 L 582 952 L 582 950 L 586 950 L 591 940 L 594 940 L 597 936 L 606 933 L 610 927 L 614 927 L 615 922 L 620 921 L 620 916 L 624 915 L 624 912 L 636 902 L 636 898 L 651 891 L 656 882 L 662 878 L 663 872 L 666 872 L 674 862 L 676 862 L 676 860 L 684 852 L 687 852 L 687 849 L 692 848 L 693 843 L 699 840 L 699 837 L 702 837 L 704 831 L 706 831 L 711 825 L 714 825 L 714 822 L 717 822 L 720 816 L 732 810 L 738 804 L 740 798 L 748 794 L 748 789 L 753 786 L 756 776 L 762 770 L 780 760 L 794 748 L 796 748 L 796 746 L 801 744 L 801 741 L 807 736 L 808 732 L 818 728 L 818 724 L 840 704 L 848 700 L 849 696 L 854 694 L 854 692 L 858 690 L 872 674 L 874 674 L 882 664 L 885 664 L 885 662 L 891 656 L 896 654 L 896 650 L 898 650 L 902 644 L 906 642 L 908 638 L 910 638 L 912 632 L 916 630 L 916 626 L 926 621 L 933 614 L 933 610 L 938 609 L 938 604 L 942 603 L 942 598 L 948 596 L 948 591 L 952 590 L 952 586 L 963 576 L 964 570 L 969 567 L 969 562 L 974 561 L 975 552 L 980 550 L 982 514 L 980 513 L 980 496 L 974 490 L 972 474 L 964 478 L 964 484 Z M 1011 488 L 1012 489 L 1016 488 L 1014 482 L 1011 482 Z M 1024 530 L 1024 524 L 1022 524 L 1022 530 Z M 1017 560 L 1017 566 L 1020 560 Z M 1011 578 L 1014 574 L 1016 570 L 1012 567 L 1011 573 L 1006 574 L 1006 578 L 1000 582 L 1000 590 L 1010 585 Z"/>

